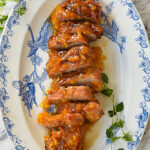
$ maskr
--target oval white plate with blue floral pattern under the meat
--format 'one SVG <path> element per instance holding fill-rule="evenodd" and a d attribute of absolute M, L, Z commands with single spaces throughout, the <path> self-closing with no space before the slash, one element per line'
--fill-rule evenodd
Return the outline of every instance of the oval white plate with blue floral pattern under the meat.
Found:
<path fill-rule="evenodd" d="M 51 35 L 49 15 L 62 0 L 20 0 L 12 10 L 0 43 L 0 107 L 7 133 L 16 150 L 44 150 L 47 131 L 36 123 L 44 91 L 51 82 L 45 66 Z M 130 0 L 99 0 L 102 5 L 104 36 L 95 44 L 107 57 L 105 72 L 115 102 L 123 101 L 125 130 L 134 141 L 119 140 L 113 149 L 134 150 L 147 125 L 150 109 L 150 51 L 143 23 Z M 23 16 L 15 11 L 26 7 Z M 97 95 L 105 116 L 85 139 L 85 149 L 109 150 L 106 129 L 111 125 L 107 111 L 111 100 Z M 120 130 L 116 131 L 120 134 Z"/>

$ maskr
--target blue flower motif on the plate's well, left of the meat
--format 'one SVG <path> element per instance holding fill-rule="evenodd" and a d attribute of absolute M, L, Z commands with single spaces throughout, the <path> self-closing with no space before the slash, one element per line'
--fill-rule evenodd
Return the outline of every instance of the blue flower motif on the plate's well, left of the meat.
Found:
<path fill-rule="evenodd" d="M 42 26 L 37 39 L 34 38 L 30 25 L 28 25 L 28 31 L 32 38 L 32 40 L 28 42 L 30 48 L 28 58 L 30 58 L 34 69 L 30 75 L 24 76 L 23 81 L 13 81 L 12 85 L 19 90 L 18 96 L 22 96 L 22 101 L 24 102 L 24 105 L 27 106 L 29 115 L 31 116 L 30 110 L 32 110 L 33 104 L 38 106 L 35 97 L 35 84 L 38 84 L 43 93 L 46 94 L 42 83 L 47 79 L 47 73 L 45 69 L 43 69 L 41 76 L 37 73 L 37 67 L 40 66 L 42 62 L 42 58 L 37 54 L 37 51 L 41 48 L 42 51 L 47 52 L 48 39 L 52 32 L 48 20 L 45 21 Z"/>

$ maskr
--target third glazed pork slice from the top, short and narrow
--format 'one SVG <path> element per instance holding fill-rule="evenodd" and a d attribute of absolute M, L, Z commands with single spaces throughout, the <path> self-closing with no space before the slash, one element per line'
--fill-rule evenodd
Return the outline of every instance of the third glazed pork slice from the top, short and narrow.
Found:
<path fill-rule="evenodd" d="M 59 34 L 52 35 L 48 41 L 49 49 L 68 50 L 74 46 L 89 45 L 88 39 L 82 34 Z"/>

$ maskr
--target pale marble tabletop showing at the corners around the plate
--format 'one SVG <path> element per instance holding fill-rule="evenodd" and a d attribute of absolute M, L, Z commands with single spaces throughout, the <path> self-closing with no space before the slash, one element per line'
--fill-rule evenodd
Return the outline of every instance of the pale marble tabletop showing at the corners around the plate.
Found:
<path fill-rule="evenodd" d="M 150 0 L 133 0 L 133 2 L 141 15 L 150 40 Z M 0 119 L 0 133 L 3 129 L 2 120 Z M 0 150 L 13 150 L 6 133 L 0 135 Z M 150 150 L 150 119 L 139 150 Z"/>

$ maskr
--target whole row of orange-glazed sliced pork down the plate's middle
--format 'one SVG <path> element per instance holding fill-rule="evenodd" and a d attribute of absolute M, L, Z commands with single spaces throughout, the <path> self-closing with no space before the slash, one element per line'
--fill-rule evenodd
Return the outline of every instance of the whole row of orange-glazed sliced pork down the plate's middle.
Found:
<path fill-rule="evenodd" d="M 66 0 L 51 14 L 46 70 L 53 82 L 37 116 L 49 130 L 46 150 L 83 150 L 86 130 L 104 115 L 94 94 L 103 87 L 105 58 L 100 47 L 89 46 L 103 35 L 100 16 L 94 0 Z"/>

